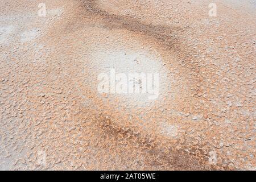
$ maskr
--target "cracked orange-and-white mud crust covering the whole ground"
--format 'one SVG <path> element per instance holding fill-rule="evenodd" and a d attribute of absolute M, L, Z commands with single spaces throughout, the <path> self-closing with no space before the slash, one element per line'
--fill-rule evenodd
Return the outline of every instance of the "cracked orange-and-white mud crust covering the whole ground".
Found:
<path fill-rule="evenodd" d="M 2 0 L 0 169 L 255 170 L 255 1 L 214 2 Z M 159 97 L 98 93 L 111 68 Z"/>

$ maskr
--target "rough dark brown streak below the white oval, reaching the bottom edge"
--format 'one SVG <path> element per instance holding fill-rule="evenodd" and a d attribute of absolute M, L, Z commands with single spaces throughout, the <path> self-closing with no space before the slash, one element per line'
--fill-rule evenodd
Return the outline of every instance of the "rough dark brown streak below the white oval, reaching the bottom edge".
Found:
<path fill-rule="evenodd" d="M 100 114 L 96 121 L 102 135 L 108 135 L 117 141 L 128 141 L 131 148 L 146 152 L 145 163 L 147 169 L 168 169 L 168 170 L 213 170 L 215 167 L 207 164 L 207 157 L 200 158 L 196 155 L 187 154 L 184 150 L 174 150 L 162 146 L 159 138 L 151 134 L 144 136 L 133 129 L 121 127 L 114 124 L 111 118 Z M 106 136 L 105 136 L 106 137 Z M 104 137 L 104 138 L 105 138 Z M 171 146 L 167 144 L 166 146 Z"/>

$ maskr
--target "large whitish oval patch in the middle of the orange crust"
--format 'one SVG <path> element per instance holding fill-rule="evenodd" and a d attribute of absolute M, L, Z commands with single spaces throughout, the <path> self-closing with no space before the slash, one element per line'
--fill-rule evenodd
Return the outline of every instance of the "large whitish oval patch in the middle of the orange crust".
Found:
<path fill-rule="evenodd" d="M 118 100 L 122 107 L 154 105 L 171 89 L 171 74 L 156 51 L 138 43 L 127 44 L 97 44 L 93 48 L 91 63 L 86 64 L 95 80 L 92 88 L 102 100 L 113 104 Z"/>

